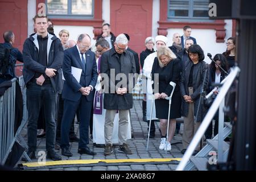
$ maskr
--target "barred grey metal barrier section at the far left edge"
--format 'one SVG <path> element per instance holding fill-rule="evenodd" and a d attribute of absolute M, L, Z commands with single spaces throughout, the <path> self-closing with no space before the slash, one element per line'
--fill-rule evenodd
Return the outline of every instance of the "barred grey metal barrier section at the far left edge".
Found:
<path fill-rule="evenodd" d="M 0 98 L 0 162 L 2 165 L 5 164 L 15 137 L 15 81 L 16 78 L 11 80 L 11 87 Z"/>

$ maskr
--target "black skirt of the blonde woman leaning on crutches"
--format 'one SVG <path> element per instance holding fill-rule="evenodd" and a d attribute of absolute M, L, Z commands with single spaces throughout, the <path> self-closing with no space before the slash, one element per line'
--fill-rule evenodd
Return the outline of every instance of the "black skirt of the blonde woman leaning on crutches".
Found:
<path fill-rule="evenodd" d="M 157 99 L 155 100 L 156 118 L 168 119 L 169 100 Z M 172 95 L 172 104 L 170 109 L 170 119 L 181 117 L 181 95 L 180 92 L 174 92 Z"/>

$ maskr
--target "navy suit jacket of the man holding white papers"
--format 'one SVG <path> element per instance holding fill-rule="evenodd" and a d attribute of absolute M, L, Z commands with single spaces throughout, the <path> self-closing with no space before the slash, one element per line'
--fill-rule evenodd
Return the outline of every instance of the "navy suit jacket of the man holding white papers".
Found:
<path fill-rule="evenodd" d="M 63 85 L 63 99 L 70 101 L 80 100 L 82 93 L 79 91 L 81 87 L 92 85 L 93 88 L 97 82 L 97 65 L 95 55 L 92 51 L 88 50 L 85 52 L 86 57 L 86 70 L 82 67 L 82 61 L 80 59 L 80 52 L 77 46 L 69 48 L 64 52 L 63 60 L 63 76 L 65 78 Z M 80 82 L 77 82 L 76 78 L 71 74 L 71 67 L 82 69 Z M 92 101 L 94 97 L 94 90 L 90 92 L 89 96 L 86 96 L 88 101 Z"/>

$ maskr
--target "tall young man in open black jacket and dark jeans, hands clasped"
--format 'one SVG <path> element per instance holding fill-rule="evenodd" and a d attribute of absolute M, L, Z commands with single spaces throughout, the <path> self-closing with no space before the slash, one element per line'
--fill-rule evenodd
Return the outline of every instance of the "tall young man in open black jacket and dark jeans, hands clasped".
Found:
<path fill-rule="evenodd" d="M 44 107 L 46 119 L 47 158 L 61 160 L 55 147 L 55 111 L 56 111 L 56 75 L 60 74 L 63 63 L 63 47 L 60 39 L 47 32 L 48 18 L 34 17 L 36 33 L 27 38 L 23 45 L 23 77 L 27 87 L 28 110 L 28 151 L 31 159 L 35 159 L 36 129 L 40 107 Z"/>

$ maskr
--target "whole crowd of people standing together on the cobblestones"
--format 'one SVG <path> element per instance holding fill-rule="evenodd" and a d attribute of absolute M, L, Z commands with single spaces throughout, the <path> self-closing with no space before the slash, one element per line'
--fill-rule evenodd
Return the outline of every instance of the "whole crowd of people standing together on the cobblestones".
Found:
<path fill-rule="evenodd" d="M 213 89 L 212 83 L 220 83 L 234 66 L 236 56 L 236 38 L 229 38 L 226 51 L 215 55 L 214 62 L 208 65 L 189 26 L 183 28 L 182 36 L 178 32 L 173 35 L 170 47 L 166 36 L 146 38 L 146 49 L 139 55 L 128 46 L 130 36 L 125 33 L 115 36 L 108 23 L 102 26 L 95 52 L 88 34 L 80 34 L 76 41 L 68 40 L 69 31 L 61 30 L 57 38 L 53 22 L 46 16 L 34 17 L 34 31 L 25 40 L 23 53 L 10 49 L 15 59 L 24 63 L 27 155 L 31 159 L 36 158 L 38 129 L 45 132 L 47 158 L 52 160 L 61 160 L 55 150 L 61 150 L 64 156 L 73 155 L 69 142 L 79 143 L 79 154 L 96 155 L 88 147 L 90 139 L 104 146 L 104 155 L 113 154 L 115 143 L 119 145 L 118 152 L 132 154 L 127 145 L 127 139 L 131 138 L 130 109 L 133 87 L 141 70 L 142 82 L 147 84 L 142 100 L 143 121 L 148 123 L 150 138 L 155 137 L 155 122 L 159 121 L 159 150 L 171 151 L 172 138 L 180 130 L 176 119 L 183 117 L 181 152 L 184 154 L 207 113 L 208 106 L 200 102 L 201 89 L 207 94 Z M 7 31 L 3 37 L 3 45 L 13 47 L 14 33 Z M 15 77 L 14 67 L 10 73 Z M 216 88 L 213 99 L 218 92 Z M 171 93 L 169 111 L 170 102 L 166 98 Z M 74 131 L 75 117 L 79 137 Z M 210 125 L 205 133 L 208 139 L 217 134 L 217 114 L 214 120 L 214 130 Z M 42 127 L 38 127 L 39 123 Z M 200 144 L 196 152 L 199 150 Z"/>

